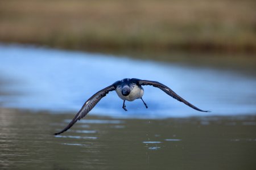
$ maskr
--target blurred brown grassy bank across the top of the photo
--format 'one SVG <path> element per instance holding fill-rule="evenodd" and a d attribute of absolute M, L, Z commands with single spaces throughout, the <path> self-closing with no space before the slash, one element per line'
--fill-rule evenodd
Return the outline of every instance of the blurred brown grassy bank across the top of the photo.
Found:
<path fill-rule="evenodd" d="M 83 50 L 256 52 L 255 1 L 0 1 L 0 41 Z"/>

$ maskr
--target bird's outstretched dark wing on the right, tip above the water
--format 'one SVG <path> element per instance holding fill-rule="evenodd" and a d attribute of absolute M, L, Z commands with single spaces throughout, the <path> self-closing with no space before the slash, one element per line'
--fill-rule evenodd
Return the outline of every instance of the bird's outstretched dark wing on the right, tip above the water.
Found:
<path fill-rule="evenodd" d="M 189 107 L 191 107 L 193 109 L 196 109 L 197 111 L 209 112 L 209 111 L 203 111 L 203 110 L 195 107 L 194 105 L 192 105 L 191 103 L 189 103 L 188 101 L 186 101 L 185 99 L 183 99 L 182 97 L 177 95 L 174 91 L 171 90 L 171 88 L 165 86 L 162 83 L 150 81 L 150 80 L 138 80 L 138 84 L 141 86 L 150 85 L 150 86 L 158 87 L 158 88 L 160 88 L 160 90 L 166 92 L 167 95 L 174 97 L 174 99 L 176 99 L 180 102 L 183 102 L 184 104 L 188 105 Z"/>

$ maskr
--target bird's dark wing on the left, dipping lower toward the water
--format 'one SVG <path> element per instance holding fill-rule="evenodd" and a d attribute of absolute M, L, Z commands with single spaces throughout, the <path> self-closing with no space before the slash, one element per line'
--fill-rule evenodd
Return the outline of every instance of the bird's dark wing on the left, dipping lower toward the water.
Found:
<path fill-rule="evenodd" d="M 102 99 L 102 97 L 105 97 L 106 94 L 108 94 L 110 91 L 115 90 L 114 84 L 111 86 L 108 86 L 100 91 L 98 91 L 96 94 L 94 94 L 90 99 L 88 99 L 84 105 L 82 105 L 82 108 L 80 111 L 76 114 L 76 116 L 73 118 L 73 120 L 68 124 L 66 128 L 63 130 L 59 131 L 58 133 L 55 133 L 55 135 L 61 134 L 64 131 L 67 131 L 69 128 L 71 128 L 78 120 L 81 118 L 85 117 L 90 110 L 93 109 L 93 107 Z"/>

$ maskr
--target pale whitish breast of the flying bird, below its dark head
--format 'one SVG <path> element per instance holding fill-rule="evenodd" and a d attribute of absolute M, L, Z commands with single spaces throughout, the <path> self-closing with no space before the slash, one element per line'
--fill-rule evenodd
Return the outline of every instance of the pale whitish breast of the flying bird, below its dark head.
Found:
<path fill-rule="evenodd" d="M 122 99 L 122 100 L 128 100 L 128 101 L 133 101 L 135 99 L 139 99 L 143 96 L 144 90 L 142 87 L 135 86 L 131 90 L 130 94 L 128 96 L 123 96 L 122 95 L 122 88 L 117 88 L 115 90 L 117 92 L 117 95 Z"/>

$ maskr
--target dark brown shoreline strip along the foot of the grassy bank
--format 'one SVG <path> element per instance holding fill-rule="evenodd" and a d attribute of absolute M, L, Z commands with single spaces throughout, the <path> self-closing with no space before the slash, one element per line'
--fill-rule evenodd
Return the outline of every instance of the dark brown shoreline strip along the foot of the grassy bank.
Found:
<path fill-rule="evenodd" d="M 51 37 L 49 37 L 51 39 Z M 180 44 L 175 44 L 175 42 L 168 42 L 166 44 L 156 43 L 152 44 L 147 42 L 146 44 L 141 44 L 139 40 L 135 40 L 133 43 L 123 42 L 118 43 L 113 39 L 112 42 L 104 41 L 85 41 L 81 44 L 82 40 L 77 40 L 71 44 L 69 40 L 61 41 L 59 44 L 55 44 L 51 41 L 43 42 L 41 40 L 22 40 L 22 39 L 10 39 L 3 40 L 0 39 L 1 44 L 32 44 L 35 46 L 46 46 L 47 48 L 56 49 L 67 49 L 67 50 L 81 50 L 83 52 L 185 52 L 185 53 L 218 53 L 218 54 L 256 54 L 256 44 L 225 44 L 225 43 L 215 43 L 212 41 L 195 41 L 189 42 L 184 41 Z"/>

